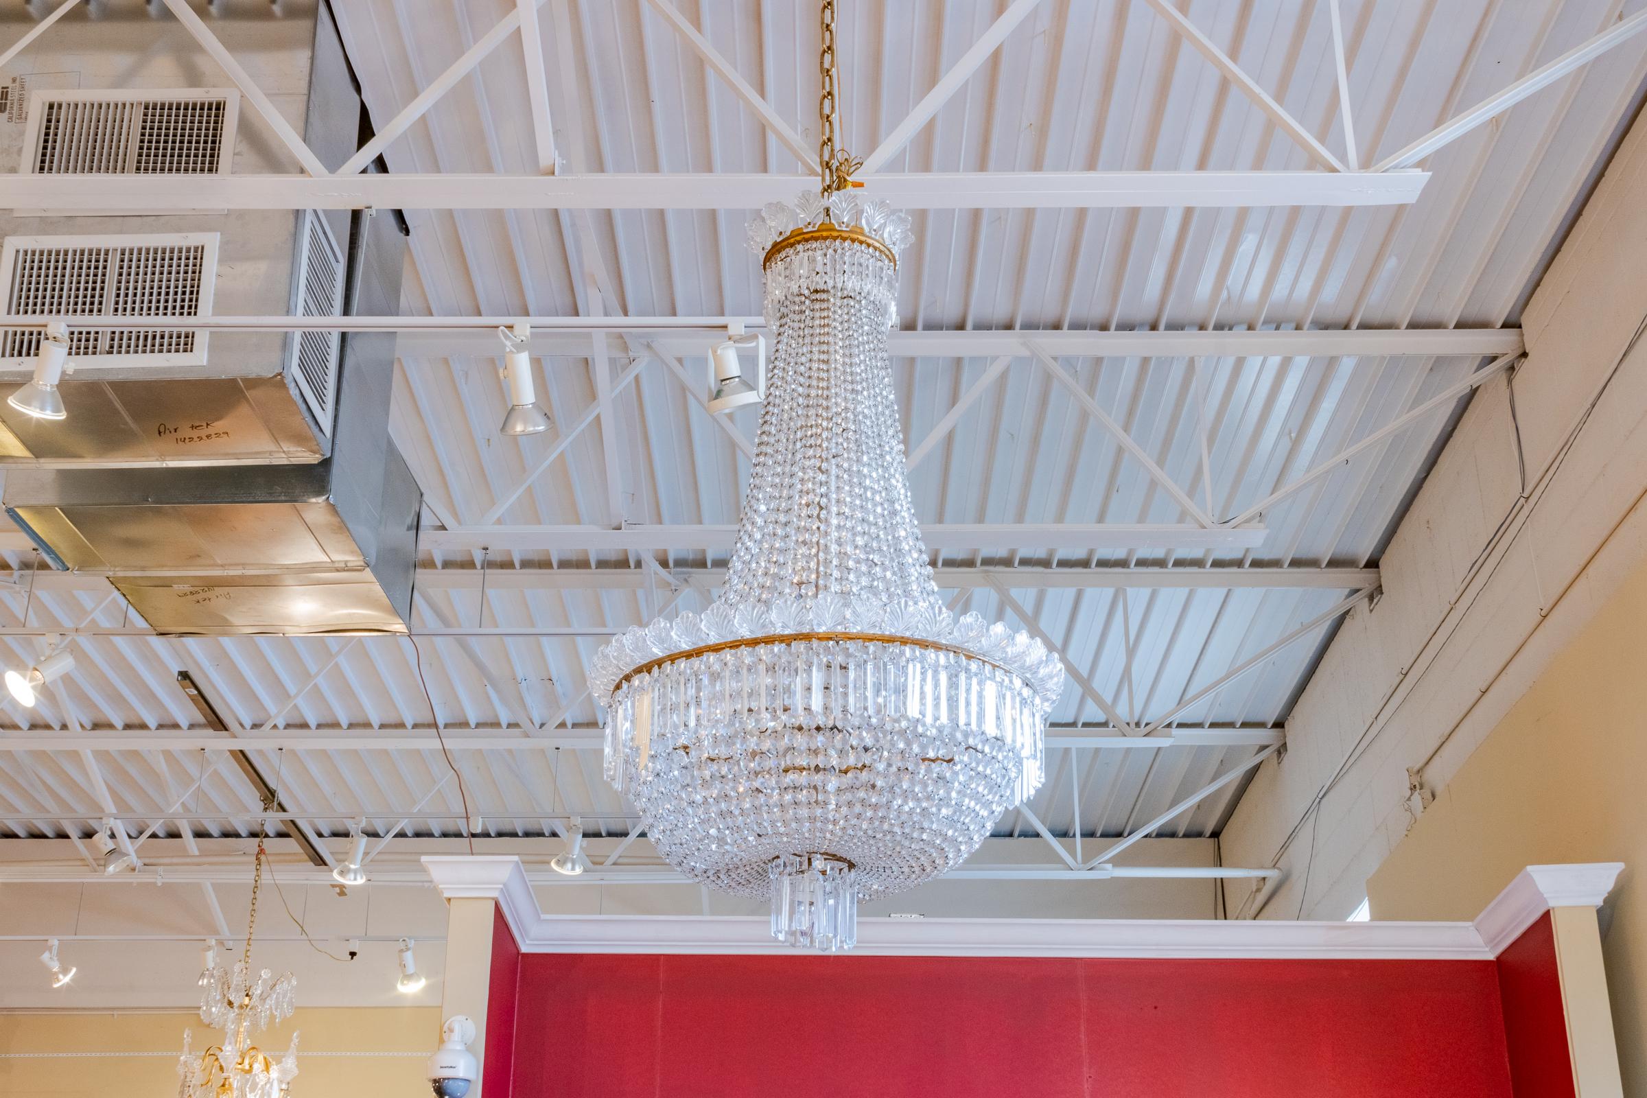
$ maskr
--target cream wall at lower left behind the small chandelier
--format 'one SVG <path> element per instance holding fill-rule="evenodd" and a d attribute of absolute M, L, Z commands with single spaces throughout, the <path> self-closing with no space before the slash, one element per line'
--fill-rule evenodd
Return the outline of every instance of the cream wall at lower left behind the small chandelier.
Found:
<path fill-rule="evenodd" d="M 303 1098 L 422 1095 L 438 1019 L 435 1007 L 298 1009 L 264 1044 L 285 1050 L 301 1031 L 293 1090 Z M 0 1014 L 0 1095 L 173 1095 L 184 1029 L 204 1047 L 196 1014 Z"/>

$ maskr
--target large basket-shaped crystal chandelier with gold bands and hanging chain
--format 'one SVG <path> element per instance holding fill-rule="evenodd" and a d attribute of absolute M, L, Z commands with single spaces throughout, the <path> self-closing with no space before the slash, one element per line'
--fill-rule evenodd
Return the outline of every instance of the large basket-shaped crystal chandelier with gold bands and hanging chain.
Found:
<path fill-rule="evenodd" d="M 939 599 L 886 354 L 909 217 L 847 194 L 832 0 L 820 67 L 820 193 L 749 226 L 774 351 L 725 588 L 613 639 L 591 682 L 606 777 L 659 853 L 835 951 L 858 900 L 952 869 L 1041 785 L 1064 670 Z"/>

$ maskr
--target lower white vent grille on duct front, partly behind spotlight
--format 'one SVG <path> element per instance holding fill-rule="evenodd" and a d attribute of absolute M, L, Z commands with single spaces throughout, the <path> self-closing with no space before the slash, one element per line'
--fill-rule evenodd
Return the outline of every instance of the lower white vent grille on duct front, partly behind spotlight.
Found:
<path fill-rule="evenodd" d="M 7 237 L 7 313 L 69 323 L 69 357 L 97 365 L 204 365 L 206 333 L 112 329 L 76 316 L 201 316 L 211 311 L 217 234 Z M 40 329 L 0 329 L 0 359 L 35 357 Z"/>

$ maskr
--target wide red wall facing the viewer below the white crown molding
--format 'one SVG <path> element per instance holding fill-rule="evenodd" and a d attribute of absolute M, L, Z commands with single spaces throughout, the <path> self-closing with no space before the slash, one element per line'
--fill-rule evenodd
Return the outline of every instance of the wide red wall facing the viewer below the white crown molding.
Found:
<path fill-rule="evenodd" d="M 1512 1095 L 1492 961 L 519 965 L 512 1098 Z"/>

